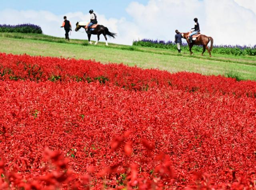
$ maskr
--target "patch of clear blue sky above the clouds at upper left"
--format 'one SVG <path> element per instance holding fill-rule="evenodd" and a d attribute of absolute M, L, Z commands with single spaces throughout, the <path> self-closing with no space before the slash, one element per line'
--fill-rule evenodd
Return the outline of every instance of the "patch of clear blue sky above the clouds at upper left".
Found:
<path fill-rule="evenodd" d="M 54 14 L 62 15 L 67 12 L 84 12 L 90 9 L 104 14 L 106 18 L 121 18 L 132 20 L 127 14 L 126 8 L 132 0 L 4 0 L 0 10 L 7 8 L 15 10 L 48 10 Z M 147 4 L 148 0 L 136 0 L 141 4 Z"/>

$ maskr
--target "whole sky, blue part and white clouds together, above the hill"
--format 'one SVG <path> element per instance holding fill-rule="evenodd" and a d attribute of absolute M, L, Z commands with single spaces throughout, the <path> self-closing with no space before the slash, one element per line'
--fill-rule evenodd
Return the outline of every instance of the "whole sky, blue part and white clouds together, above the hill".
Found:
<path fill-rule="evenodd" d="M 0 24 L 36 24 L 44 34 L 64 37 L 63 16 L 74 26 L 89 21 L 90 9 L 98 24 L 117 33 L 116 39 L 108 39 L 112 43 L 131 45 L 143 38 L 173 41 L 174 31 L 188 32 L 197 17 L 201 33 L 214 38 L 215 45 L 256 44 L 251 37 L 256 31 L 256 0 L 2 0 Z M 87 37 L 72 32 L 71 38 Z"/>

